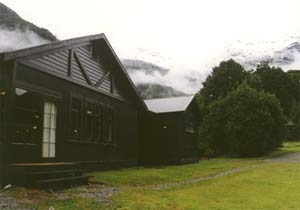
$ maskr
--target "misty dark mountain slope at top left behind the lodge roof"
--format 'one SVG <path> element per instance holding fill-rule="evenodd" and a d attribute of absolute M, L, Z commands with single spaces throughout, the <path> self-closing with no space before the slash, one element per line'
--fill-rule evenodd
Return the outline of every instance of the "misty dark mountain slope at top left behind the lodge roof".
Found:
<path fill-rule="evenodd" d="M 57 41 L 47 29 L 22 19 L 15 11 L 0 3 L 0 52 Z"/>

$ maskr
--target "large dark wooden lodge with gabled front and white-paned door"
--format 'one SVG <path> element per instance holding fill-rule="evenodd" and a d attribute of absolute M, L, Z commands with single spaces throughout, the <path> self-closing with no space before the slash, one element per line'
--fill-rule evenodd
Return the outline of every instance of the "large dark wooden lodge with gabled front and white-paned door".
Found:
<path fill-rule="evenodd" d="M 104 34 L 0 54 L 1 184 L 136 165 L 145 108 Z"/>

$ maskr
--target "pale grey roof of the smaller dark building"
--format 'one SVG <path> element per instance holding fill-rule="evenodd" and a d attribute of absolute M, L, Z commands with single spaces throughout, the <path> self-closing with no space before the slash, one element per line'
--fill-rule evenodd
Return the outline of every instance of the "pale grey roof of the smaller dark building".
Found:
<path fill-rule="evenodd" d="M 154 113 L 184 112 L 193 101 L 194 96 L 155 98 L 145 100 L 145 103 L 148 110 Z"/>

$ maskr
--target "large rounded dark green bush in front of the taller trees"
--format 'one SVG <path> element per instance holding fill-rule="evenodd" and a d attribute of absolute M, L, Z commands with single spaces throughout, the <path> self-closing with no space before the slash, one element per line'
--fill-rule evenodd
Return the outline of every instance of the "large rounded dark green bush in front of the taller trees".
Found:
<path fill-rule="evenodd" d="M 278 99 L 242 84 L 209 105 L 200 139 L 217 154 L 257 156 L 281 144 L 283 129 Z"/>

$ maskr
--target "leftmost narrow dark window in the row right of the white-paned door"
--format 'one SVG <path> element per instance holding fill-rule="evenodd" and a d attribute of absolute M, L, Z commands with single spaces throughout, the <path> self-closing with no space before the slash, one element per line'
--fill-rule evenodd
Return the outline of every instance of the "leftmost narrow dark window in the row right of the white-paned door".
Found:
<path fill-rule="evenodd" d="M 71 102 L 71 137 L 79 140 L 81 128 L 81 101 L 77 98 L 72 98 Z"/>

